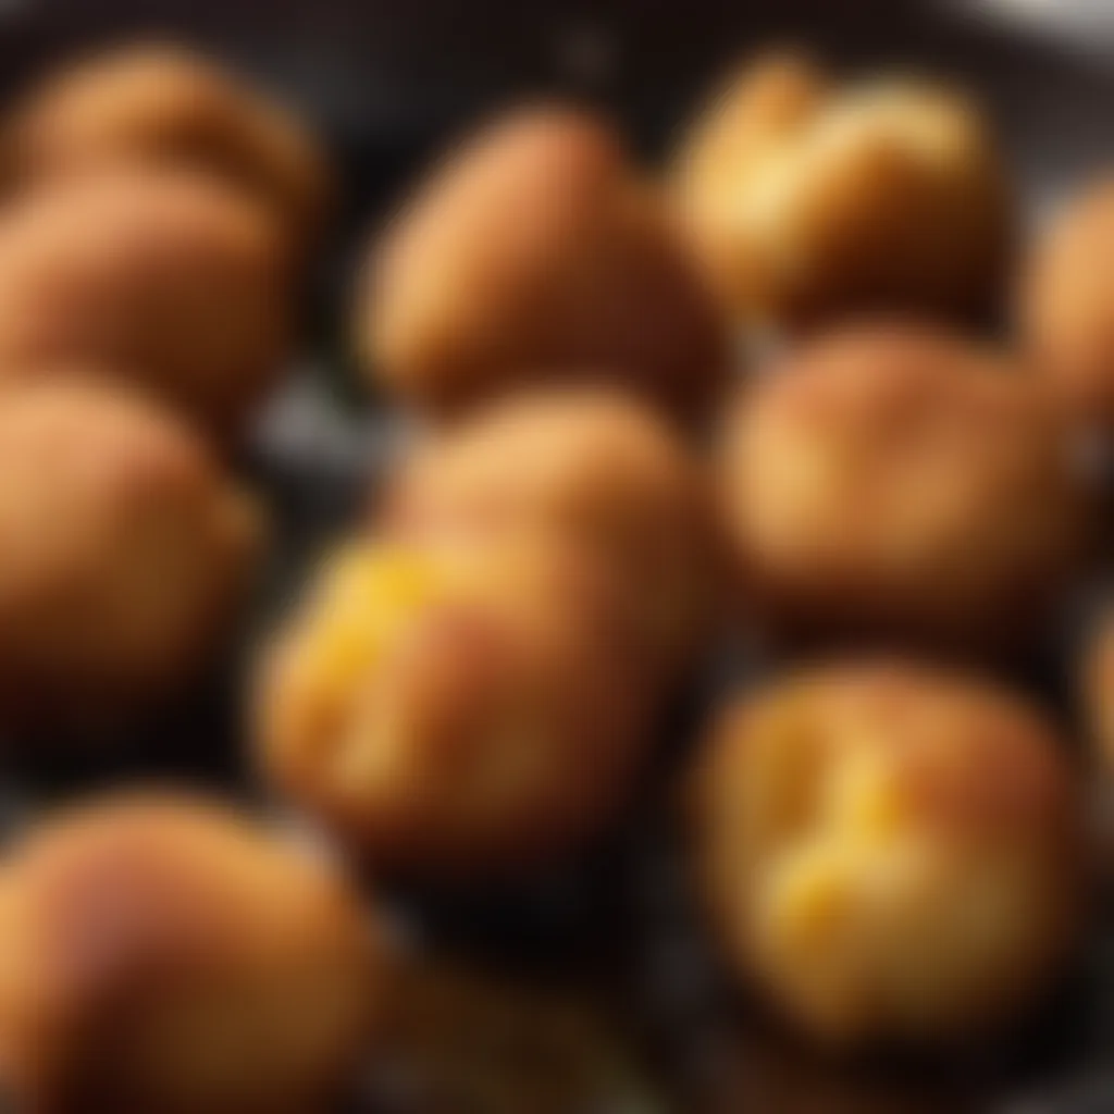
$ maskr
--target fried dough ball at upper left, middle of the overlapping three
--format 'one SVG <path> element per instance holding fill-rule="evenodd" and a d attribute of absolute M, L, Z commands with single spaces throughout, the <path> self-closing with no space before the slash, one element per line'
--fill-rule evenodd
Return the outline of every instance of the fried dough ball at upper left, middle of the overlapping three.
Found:
<path fill-rule="evenodd" d="M 115 369 L 232 437 L 281 370 L 286 270 L 260 211 L 204 178 L 46 188 L 0 218 L 0 380 Z"/>

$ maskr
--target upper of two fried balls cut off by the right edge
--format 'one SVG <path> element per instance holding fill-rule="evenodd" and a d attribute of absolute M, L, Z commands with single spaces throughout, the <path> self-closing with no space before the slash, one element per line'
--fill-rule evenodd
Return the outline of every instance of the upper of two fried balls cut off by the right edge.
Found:
<path fill-rule="evenodd" d="M 1114 429 L 1114 177 L 1065 206 L 1023 271 L 1017 317 L 1035 368 L 1073 418 Z"/>

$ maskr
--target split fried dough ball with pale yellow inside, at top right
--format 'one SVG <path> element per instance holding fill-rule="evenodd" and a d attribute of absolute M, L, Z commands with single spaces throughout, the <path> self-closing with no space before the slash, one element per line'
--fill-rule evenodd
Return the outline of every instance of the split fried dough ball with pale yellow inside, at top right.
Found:
<path fill-rule="evenodd" d="M 747 66 L 678 157 L 681 204 L 744 325 L 869 311 L 976 317 L 1001 294 L 1013 205 L 975 105 L 912 78 Z"/>

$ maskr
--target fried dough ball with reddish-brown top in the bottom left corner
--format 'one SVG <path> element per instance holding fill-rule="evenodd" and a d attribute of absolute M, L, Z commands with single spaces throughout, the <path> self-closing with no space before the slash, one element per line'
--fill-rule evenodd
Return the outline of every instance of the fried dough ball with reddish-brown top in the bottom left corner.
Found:
<path fill-rule="evenodd" d="M 36 1114 L 317 1114 L 383 956 L 342 879 L 223 805 L 47 821 L 0 872 L 0 1084 Z"/>

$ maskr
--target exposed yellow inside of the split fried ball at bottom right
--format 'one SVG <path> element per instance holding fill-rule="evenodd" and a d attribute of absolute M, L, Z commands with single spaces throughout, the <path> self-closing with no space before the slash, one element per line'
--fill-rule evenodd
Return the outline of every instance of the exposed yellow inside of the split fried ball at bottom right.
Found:
<path fill-rule="evenodd" d="M 1024 858 L 985 849 L 957 867 L 869 740 L 820 784 L 812 822 L 752 877 L 758 962 L 833 1035 L 877 1010 L 912 1025 L 950 1016 L 957 984 L 993 978 L 1032 915 Z"/>

